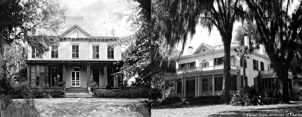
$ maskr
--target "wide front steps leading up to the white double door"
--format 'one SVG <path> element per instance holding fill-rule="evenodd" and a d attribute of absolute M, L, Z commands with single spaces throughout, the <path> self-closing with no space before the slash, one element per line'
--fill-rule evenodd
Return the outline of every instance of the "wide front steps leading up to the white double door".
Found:
<path fill-rule="evenodd" d="M 65 97 L 92 97 L 87 88 L 65 88 Z"/>

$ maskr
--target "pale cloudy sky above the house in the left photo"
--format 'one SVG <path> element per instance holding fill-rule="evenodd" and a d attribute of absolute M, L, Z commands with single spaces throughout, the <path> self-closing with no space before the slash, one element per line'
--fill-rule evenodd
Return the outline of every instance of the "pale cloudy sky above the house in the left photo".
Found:
<path fill-rule="evenodd" d="M 126 30 L 126 22 L 117 19 L 114 13 L 131 13 L 128 6 L 136 7 L 137 2 L 131 0 L 59 0 L 65 6 L 66 16 L 84 17 L 81 28 L 91 34 L 111 35 L 112 28 L 115 36 L 131 34 Z"/>

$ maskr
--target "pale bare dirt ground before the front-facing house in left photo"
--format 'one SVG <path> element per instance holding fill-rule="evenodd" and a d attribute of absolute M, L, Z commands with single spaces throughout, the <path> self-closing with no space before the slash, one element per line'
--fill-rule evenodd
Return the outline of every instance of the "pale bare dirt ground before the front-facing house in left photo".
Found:
<path fill-rule="evenodd" d="M 145 117 L 146 99 L 54 98 L 35 99 L 45 117 Z"/>

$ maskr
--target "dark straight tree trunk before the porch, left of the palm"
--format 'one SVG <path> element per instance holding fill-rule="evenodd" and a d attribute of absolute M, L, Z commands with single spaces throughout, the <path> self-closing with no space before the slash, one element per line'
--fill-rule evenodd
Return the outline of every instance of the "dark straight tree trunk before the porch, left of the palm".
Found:
<path fill-rule="evenodd" d="M 222 103 L 230 103 L 230 77 L 231 77 L 231 66 L 230 66 L 230 47 L 231 37 L 229 39 L 223 39 L 224 46 L 224 65 L 223 65 L 223 84 L 222 84 Z"/>

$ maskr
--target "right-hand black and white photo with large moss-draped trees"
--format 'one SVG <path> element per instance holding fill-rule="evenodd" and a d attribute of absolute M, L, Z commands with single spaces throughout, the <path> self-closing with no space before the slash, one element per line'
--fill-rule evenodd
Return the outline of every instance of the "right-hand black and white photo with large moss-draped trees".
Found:
<path fill-rule="evenodd" d="M 301 0 L 151 5 L 151 117 L 302 116 Z"/>

